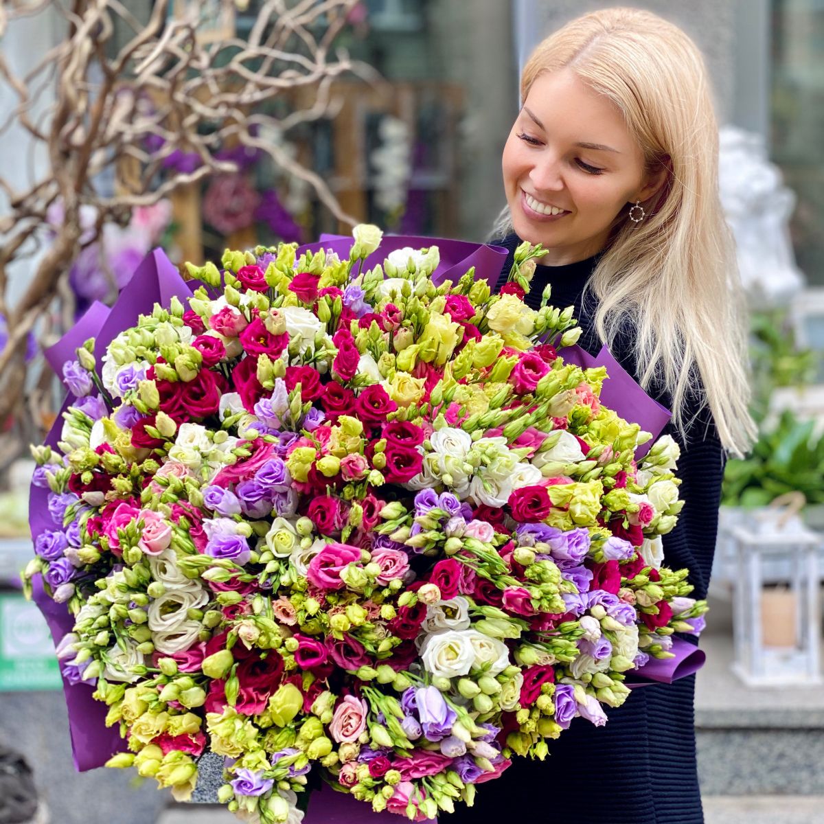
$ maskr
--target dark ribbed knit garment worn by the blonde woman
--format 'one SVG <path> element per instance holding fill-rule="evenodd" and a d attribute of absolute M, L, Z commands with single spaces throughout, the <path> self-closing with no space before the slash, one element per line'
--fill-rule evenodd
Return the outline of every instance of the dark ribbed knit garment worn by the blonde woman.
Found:
<path fill-rule="evenodd" d="M 509 250 L 499 288 L 506 282 L 520 239 L 502 243 Z M 575 307 L 583 334 L 578 344 L 597 354 L 602 341 L 594 329 L 595 306 L 582 305 L 582 293 L 597 258 L 565 266 L 537 266 L 527 303 L 537 307 L 547 283 L 550 303 Z M 612 354 L 636 375 L 632 335 L 620 335 Z M 650 391 L 672 409 L 665 391 Z M 673 569 L 687 567 L 695 597 L 705 597 L 713 564 L 724 452 L 709 411 L 698 406 L 686 442 L 672 424 L 670 434 L 681 447 L 677 475 L 685 500 L 677 526 L 663 538 L 664 558 Z M 697 414 L 696 414 L 697 413 Z M 691 638 L 691 636 L 686 636 Z M 575 719 L 571 728 L 550 742 L 545 761 L 517 758 L 499 780 L 483 784 L 475 808 L 443 817 L 449 824 L 508 820 L 570 824 L 702 824 L 695 765 L 693 697 L 695 677 L 672 686 L 635 690 L 625 705 L 608 711 L 606 727 Z"/>

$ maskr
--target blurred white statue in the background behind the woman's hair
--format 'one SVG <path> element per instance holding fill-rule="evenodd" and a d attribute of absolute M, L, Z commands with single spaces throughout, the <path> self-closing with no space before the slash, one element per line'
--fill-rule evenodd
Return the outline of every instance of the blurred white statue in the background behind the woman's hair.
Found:
<path fill-rule="evenodd" d="M 789 302 L 804 286 L 789 238 L 795 195 L 770 163 L 760 135 L 725 126 L 719 141 L 721 202 L 744 288 L 761 303 Z"/>

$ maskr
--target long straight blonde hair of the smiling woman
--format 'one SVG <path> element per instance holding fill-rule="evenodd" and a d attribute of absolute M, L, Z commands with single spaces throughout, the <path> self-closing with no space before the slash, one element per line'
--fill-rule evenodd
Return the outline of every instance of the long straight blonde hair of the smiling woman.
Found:
<path fill-rule="evenodd" d="M 667 182 L 643 204 L 643 222 L 626 211 L 616 218 L 588 283 L 598 298 L 597 333 L 611 345 L 629 322 L 639 382 L 669 393 L 682 436 L 691 423 L 688 397 L 702 385 L 700 405 L 709 405 L 723 447 L 742 456 L 756 437 L 747 410 L 746 303 L 719 200 L 718 124 L 701 54 L 661 17 L 611 8 L 538 44 L 522 72 L 522 101 L 536 77 L 559 68 L 616 105 L 649 171 L 668 168 Z M 494 235 L 511 231 L 505 209 Z"/>

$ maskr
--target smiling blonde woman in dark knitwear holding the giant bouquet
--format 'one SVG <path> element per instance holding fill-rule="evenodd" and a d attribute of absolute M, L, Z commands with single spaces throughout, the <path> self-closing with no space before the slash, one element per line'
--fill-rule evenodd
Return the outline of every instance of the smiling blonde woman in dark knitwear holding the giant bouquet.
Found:
<path fill-rule="evenodd" d="M 717 191 L 717 124 L 704 63 L 676 26 L 633 9 L 575 20 L 535 49 L 503 150 L 496 238 L 540 242 L 527 302 L 574 305 L 602 344 L 673 410 L 686 505 L 669 566 L 704 597 L 725 454 L 747 451 L 745 330 Z M 694 679 L 635 691 L 604 728 L 576 719 L 546 761 L 519 762 L 450 822 L 699 824 Z"/>

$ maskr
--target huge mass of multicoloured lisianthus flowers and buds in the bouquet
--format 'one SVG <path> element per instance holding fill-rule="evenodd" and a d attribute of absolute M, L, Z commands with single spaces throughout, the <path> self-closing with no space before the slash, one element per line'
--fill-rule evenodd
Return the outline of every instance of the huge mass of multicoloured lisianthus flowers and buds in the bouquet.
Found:
<path fill-rule="evenodd" d="M 208 747 L 254 822 L 319 779 L 418 820 L 471 804 L 705 611 L 662 566 L 677 447 L 636 460 L 605 369 L 559 357 L 572 310 L 522 301 L 540 248 L 493 295 L 433 283 L 437 246 L 364 267 L 380 242 L 188 265 L 191 297 L 77 347 L 34 450 L 26 575 L 73 615 L 108 764 L 187 798 Z"/>

